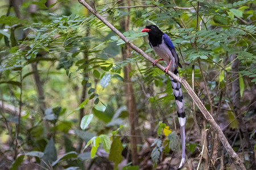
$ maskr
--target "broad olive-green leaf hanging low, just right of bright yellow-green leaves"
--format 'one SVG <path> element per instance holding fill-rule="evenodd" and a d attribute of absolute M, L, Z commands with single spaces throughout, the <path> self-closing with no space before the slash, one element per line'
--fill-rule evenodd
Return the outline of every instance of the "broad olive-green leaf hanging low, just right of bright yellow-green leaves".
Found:
<path fill-rule="evenodd" d="M 119 137 L 116 137 L 112 142 L 110 152 L 109 152 L 109 160 L 114 161 L 115 167 L 117 167 L 117 165 L 122 162 L 122 159 L 123 159 L 122 151 L 123 151 L 122 142 L 119 140 Z"/>

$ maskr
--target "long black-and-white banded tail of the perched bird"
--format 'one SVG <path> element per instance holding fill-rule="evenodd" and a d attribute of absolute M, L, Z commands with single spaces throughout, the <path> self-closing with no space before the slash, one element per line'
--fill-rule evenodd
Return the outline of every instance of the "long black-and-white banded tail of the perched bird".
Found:
<path fill-rule="evenodd" d="M 176 72 L 176 75 L 179 76 L 177 71 L 175 72 Z M 170 76 L 170 79 L 172 83 L 172 91 L 174 92 L 174 96 L 175 96 L 177 116 L 179 118 L 179 124 L 180 124 L 182 155 L 181 155 L 181 162 L 180 162 L 179 168 L 181 168 L 185 163 L 185 122 L 186 122 L 185 107 L 184 107 L 184 100 L 183 100 L 180 83 L 177 82 L 175 79 L 171 78 L 171 76 Z"/>

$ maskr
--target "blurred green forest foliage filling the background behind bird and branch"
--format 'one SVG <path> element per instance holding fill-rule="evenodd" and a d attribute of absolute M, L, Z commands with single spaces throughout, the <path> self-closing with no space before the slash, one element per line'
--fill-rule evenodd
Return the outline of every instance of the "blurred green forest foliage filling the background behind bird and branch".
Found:
<path fill-rule="evenodd" d="M 0 6 L 1 169 L 177 168 L 179 125 L 168 76 L 134 51 L 123 59 L 124 42 L 78 1 L 0 1 Z M 141 29 L 157 24 L 171 37 L 183 65 L 179 75 L 195 84 L 196 94 L 252 169 L 255 1 L 96 1 L 94 6 L 154 58 Z M 137 111 L 138 163 L 131 154 L 127 66 Z M 183 93 L 184 168 L 234 168 L 221 145 L 220 159 L 210 163 L 213 144 L 219 142 Z M 202 129 L 208 129 L 208 157 L 200 154 Z M 210 161 L 205 164 L 201 156 Z"/>

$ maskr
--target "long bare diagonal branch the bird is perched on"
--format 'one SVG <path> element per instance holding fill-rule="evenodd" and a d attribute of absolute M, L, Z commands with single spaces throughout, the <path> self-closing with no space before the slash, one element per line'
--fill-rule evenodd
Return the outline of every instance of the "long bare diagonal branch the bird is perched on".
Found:
<path fill-rule="evenodd" d="M 126 37 L 117 30 L 112 24 L 110 24 L 103 16 L 98 14 L 96 10 L 94 10 L 92 7 L 88 5 L 84 0 L 78 0 L 83 6 L 85 6 L 90 12 L 92 12 L 93 15 L 95 15 L 98 19 L 100 19 L 105 25 L 107 25 L 112 31 L 114 31 L 123 41 L 126 42 L 135 52 L 141 54 L 144 58 L 146 58 L 148 61 L 153 62 L 154 59 L 148 56 L 143 50 L 139 49 L 137 46 L 135 46 L 133 43 L 131 43 Z M 156 66 L 160 70 L 164 70 L 164 67 L 160 65 L 159 63 L 156 63 Z M 181 83 L 185 90 L 188 92 L 189 96 L 191 96 L 192 100 L 196 103 L 197 107 L 200 109 L 201 113 L 205 117 L 205 119 L 209 122 L 209 124 L 212 126 L 212 128 L 217 132 L 218 138 L 220 139 L 222 145 L 225 147 L 226 151 L 228 152 L 230 158 L 232 159 L 233 163 L 236 165 L 238 169 L 244 169 L 245 165 L 243 165 L 241 159 L 237 155 L 237 153 L 233 150 L 233 148 L 230 146 L 228 140 L 226 139 L 224 133 L 220 129 L 220 126 L 217 125 L 217 123 L 214 121 L 212 115 L 207 111 L 207 109 L 204 107 L 203 103 L 199 99 L 199 97 L 195 94 L 195 92 L 192 90 L 192 88 L 189 86 L 188 82 L 183 78 L 176 76 L 174 73 L 171 73 L 171 71 L 167 72 L 168 75 L 170 75 L 172 78 L 174 78 L 177 82 Z"/>

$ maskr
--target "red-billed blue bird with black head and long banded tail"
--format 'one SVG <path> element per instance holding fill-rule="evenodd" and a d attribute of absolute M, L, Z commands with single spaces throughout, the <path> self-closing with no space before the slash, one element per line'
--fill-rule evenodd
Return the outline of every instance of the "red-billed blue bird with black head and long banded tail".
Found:
<path fill-rule="evenodd" d="M 177 56 L 175 46 L 172 44 L 170 37 L 166 33 L 163 33 L 156 25 L 148 25 L 143 28 L 141 32 L 148 33 L 149 44 L 154 52 L 160 57 L 160 59 L 155 59 L 152 65 L 155 66 L 158 61 L 163 60 L 167 65 L 167 67 L 164 69 L 164 73 L 167 74 L 168 70 L 170 70 L 172 73 L 179 76 L 177 67 L 179 66 L 182 69 L 182 66 L 179 62 L 179 56 Z M 171 76 L 170 79 L 172 84 L 172 91 L 175 96 L 177 117 L 180 124 L 182 153 L 179 168 L 181 168 L 185 163 L 185 107 L 180 83 L 173 79 Z"/>

